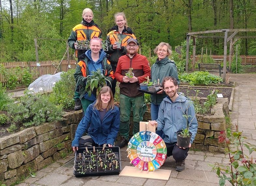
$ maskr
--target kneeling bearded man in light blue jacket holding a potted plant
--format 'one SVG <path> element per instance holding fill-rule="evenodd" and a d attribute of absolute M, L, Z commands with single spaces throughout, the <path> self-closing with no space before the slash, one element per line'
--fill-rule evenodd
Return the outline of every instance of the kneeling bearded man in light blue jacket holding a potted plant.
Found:
<path fill-rule="evenodd" d="M 181 93 L 177 93 L 177 79 L 167 76 L 162 82 L 163 90 L 168 95 L 163 99 L 158 111 L 158 119 L 149 121 L 149 124 L 156 125 L 157 131 L 163 130 L 165 134 L 164 142 L 167 149 L 167 156 L 173 156 L 176 161 L 176 171 L 185 169 L 185 159 L 188 156 L 188 150 L 195 139 L 198 123 L 195 116 L 193 102 Z M 184 117 L 188 116 L 188 119 Z M 182 148 L 177 145 L 176 132 L 189 127 L 192 133 L 188 148 Z"/>

